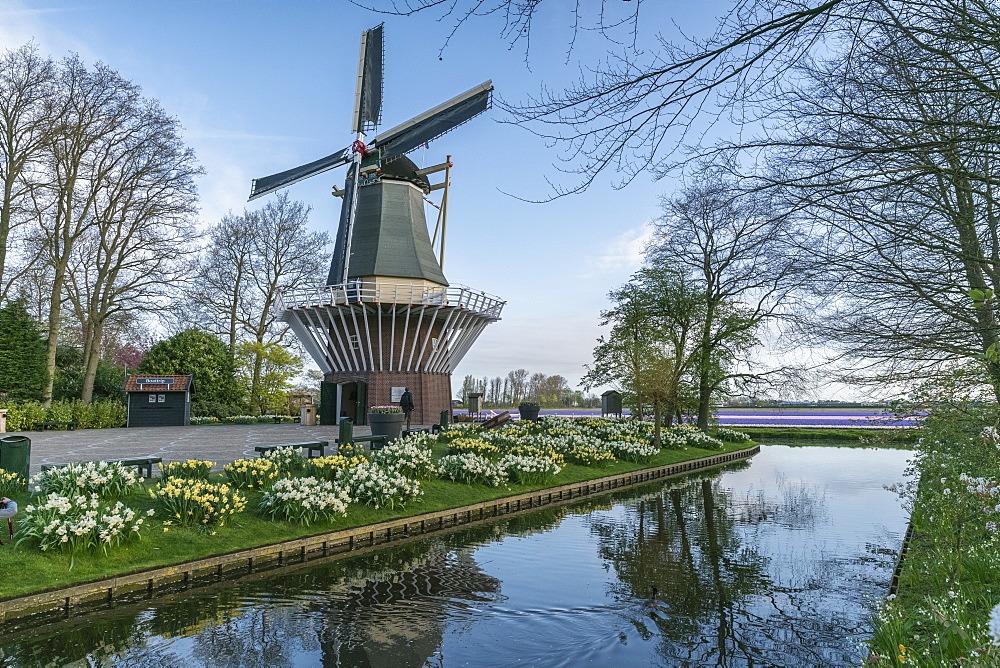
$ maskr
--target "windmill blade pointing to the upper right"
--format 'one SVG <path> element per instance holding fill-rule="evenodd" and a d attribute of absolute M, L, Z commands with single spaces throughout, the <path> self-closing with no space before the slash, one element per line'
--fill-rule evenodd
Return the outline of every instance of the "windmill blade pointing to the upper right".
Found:
<path fill-rule="evenodd" d="M 492 81 L 481 83 L 458 97 L 383 132 L 375 138 L 371 147 L 381 149 L 382 157 L 386 159 L 408 153 L 489 109 L 492 92 Z"/>

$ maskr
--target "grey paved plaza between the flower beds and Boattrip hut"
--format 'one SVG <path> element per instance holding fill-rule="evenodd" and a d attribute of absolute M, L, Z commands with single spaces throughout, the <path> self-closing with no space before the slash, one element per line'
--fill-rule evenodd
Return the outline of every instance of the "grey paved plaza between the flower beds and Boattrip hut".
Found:
<path fill-rule="evenodd" d="M 127 457 L 161 457 L 164 462 L 204 459 L 215 462 L 216 469 L 221 469 L 233 460 L 257 457 L 254 447 L 258 445 L 306 441 L 329 441 L 332 445 L 339 434 L 336 425 L 256 424 L 12 432 L 3 436 L 31 439 L 31 475 L 34 475 L 42 464 Z M 354 428 L 355 436 L 369 434 L 368 427 Z"/>

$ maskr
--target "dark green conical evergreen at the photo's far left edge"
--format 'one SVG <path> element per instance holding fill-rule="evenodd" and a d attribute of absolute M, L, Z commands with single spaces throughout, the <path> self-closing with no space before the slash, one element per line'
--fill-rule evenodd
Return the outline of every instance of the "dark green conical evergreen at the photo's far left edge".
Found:
<path fill-rule="evenodd" d="M 23 304 L 7 302 L 0 308 L 0 391 L 38 401 L 47 384 L 45 339 Z"/>

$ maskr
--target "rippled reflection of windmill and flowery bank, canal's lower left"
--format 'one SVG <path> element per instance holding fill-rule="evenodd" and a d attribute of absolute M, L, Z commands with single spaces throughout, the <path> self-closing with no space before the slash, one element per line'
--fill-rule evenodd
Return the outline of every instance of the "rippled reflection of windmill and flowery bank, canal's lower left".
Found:
<path fill-rule="evenodd" d="M 0 665 L 287 666 L 314 654 L 324 666 L 422 666 L 446 618 L 500 590 L 442 538 L 95 615 L 4 647 Z"/>

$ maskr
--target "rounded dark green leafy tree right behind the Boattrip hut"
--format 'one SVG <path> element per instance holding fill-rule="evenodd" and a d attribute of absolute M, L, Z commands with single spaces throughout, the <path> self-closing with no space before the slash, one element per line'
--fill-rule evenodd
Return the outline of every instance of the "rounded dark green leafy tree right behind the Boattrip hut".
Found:
<path fill-rule="evenodd" d="M 229 349 L 200 329 L 186 329 L 156 343 L 146 353 L 137 373 L 194 374 L 200 402 L 239 405 L 243 395 Z"/>

